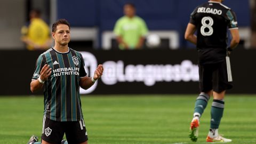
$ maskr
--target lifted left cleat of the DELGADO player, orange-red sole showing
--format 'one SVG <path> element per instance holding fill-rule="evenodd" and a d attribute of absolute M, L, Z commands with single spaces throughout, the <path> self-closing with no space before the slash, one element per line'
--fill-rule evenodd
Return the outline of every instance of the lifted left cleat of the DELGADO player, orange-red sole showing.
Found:
<path fill-rule="evenodd" d="M 194 141 L 194 142 L 197 141 L 198 128 L 199 128 L 199 119 L 198 119 L 198 117 L 194 117 L 190 123 L 189 138 L 191 139 L 191 141 Z"/>

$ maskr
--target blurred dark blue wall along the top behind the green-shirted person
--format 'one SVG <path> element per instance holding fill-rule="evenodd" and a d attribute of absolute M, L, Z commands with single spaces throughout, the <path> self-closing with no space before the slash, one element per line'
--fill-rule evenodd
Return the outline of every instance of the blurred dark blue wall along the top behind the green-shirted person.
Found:
<path fill-rule="evenodd" d="M 189 15 L 207 0 L 58 0 L 57 18 L 67 19 L 73 27 L 98 27 L 100 38 L 102 31 L 113 30 L 126 2 L 135 4 L 149 30 L 177 30 L 180 45 L 190 46 L 183 40 Z M 239 27 L 250 27 L 249 0 L 226 0 L 223 4 L 236 12 Z"/>

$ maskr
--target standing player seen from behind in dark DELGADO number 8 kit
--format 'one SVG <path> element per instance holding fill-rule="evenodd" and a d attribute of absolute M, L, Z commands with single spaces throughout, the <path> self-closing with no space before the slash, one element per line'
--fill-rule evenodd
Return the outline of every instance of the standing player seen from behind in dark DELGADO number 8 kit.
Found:
<path fill-rule="evenodd" d="M 190 124 L 189 137 L 198 138 L 199 118 L 202 116 L 210 96 L 213 95 L 211 107 L 211 125 L 207 142 L 230 142 L 219 135 L 219 125 L 224 110 L 224 96 L 231 89 L 229 54 L 239 43 L 236 15 L 221 0 L 212 0 L 199 5 L 190 15 L 185 39 L 195 44 L 198 50 L 199 87 L 201 93 L 195 102 L 194 116 Z M 227 46 L 227 29 L 232 39 Z M 197 31 L 197 35 L 195 35 Z"/>

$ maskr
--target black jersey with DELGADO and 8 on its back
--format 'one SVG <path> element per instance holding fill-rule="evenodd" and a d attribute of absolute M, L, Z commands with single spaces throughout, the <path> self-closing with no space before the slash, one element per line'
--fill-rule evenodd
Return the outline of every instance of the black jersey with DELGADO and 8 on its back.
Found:
<path fill-rule="evenodd" d="M 190 15 L 197 29 L 199 63 L 218 63 L 227 53 L 227 29 L 237 29 L 236 14 L 219 2 L 199 5 Z"/>

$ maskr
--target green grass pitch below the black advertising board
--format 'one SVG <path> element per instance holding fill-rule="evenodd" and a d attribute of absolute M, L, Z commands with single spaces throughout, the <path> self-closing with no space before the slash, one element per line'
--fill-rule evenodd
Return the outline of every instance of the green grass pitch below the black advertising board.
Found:
<path fill-rule="evenodd" d="M 90 144 L 195 143 L 188 138 L 197 95 L 83 95 Z M 206 143 L 209 105 L 196 143 Z M 219 133 L 233 142 L 256 143 L 256 95 L 226 95 Z M 27 143 L 41 137 L 43 97 L 0 97 L 0 143 Z M 41 138 L 40 138 L 41 140 Z"/>

